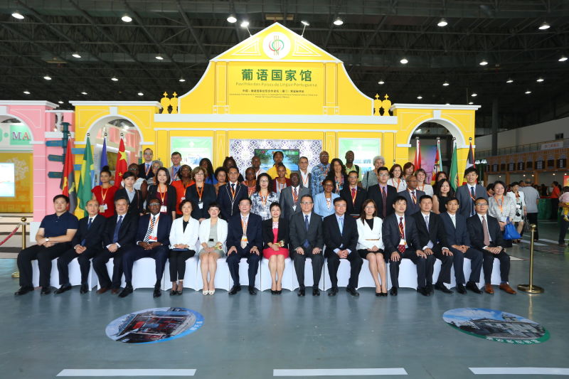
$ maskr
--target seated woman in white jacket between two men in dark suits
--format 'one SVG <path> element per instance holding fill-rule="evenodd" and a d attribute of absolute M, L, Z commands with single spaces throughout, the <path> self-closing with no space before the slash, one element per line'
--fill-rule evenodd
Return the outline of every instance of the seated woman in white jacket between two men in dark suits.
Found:
<path fill-rule="evenodd" d="M 388 255 L 385 254 L 383 240 L 381 238 L 381 225 L 383 221 L 376 217 L 376 202 L 368 199 L 363 201 L 361 215 L 358 218 L 358 254 L 368 260 L 369 270 L 376 283 L 376 296 L 387 296 L 387 274 L 385 262 Z M 378 280 L 381 277 L 381 284 Z"/>

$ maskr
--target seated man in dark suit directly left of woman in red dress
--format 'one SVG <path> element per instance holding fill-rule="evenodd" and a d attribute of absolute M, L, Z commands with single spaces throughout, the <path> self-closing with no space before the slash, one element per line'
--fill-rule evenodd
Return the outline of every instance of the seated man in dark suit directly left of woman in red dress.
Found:
<path fill-rule="evenodd" d="M 233 169 L 233 168 L 232 168 Z M 247 193 L 247 189 L 245 189 Z M 247 258 L 249 265 L 249 293 L 257 294 L 255 277 L 259 270 L 259 261 L 262 251 L 261 216 L 251 212 L 251 199 L 243 198 L 239 201 L 239 212 L 229 219 L 227 241 L 227 265 L 233 287 L 229 294 L 234 295 L 241 290 L 239 283 L 239 262 Z"/>

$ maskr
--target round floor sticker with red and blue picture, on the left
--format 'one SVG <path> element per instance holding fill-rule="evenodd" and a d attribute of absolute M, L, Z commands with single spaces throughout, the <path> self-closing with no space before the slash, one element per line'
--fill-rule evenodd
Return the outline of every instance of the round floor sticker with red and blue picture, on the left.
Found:
<path fill-rule="evenodd" d="M 120 316 L 107 325 L 105 333 L 119 342 L 155 343 L 186 336 L 202 325 L 203 316 L 191 309 L 150 308 Z"/>

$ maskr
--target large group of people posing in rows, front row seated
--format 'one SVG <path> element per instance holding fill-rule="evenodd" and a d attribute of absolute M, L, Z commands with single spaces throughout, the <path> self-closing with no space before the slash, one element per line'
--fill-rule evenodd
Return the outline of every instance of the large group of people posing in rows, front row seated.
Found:
<path fill-rule="evenodd" d="M 346 164 L 338 158 L 329 162 L 329 154 L 322 151 L 312 171 L 303 156 L 299 171 L 294 172 L 282 164 L 280 151 L 273 155 L 275 164 L 267 172 L 262 172 L 255 156 L 245 178 L 231 157 L 215 171 L 208 159 L 194 169 L 180 164 L 177 152 L 169 168 L 153 161 L 150 149 L 144 151 L 144 159 L 140 165 L 130 165 L 122 183 L 115 186 L 110 183 L 110 171 L 103 169 L 101 184 L 93 188 L 87 216 L 81 220 L 69 213 L 66 196 L 55 196 L 55 213 L 42 220 L 37 244 L 18 255 L 21 287 L 16 295 L 33 291 L 32 260 L 38 260 L 41 294 L 49 294 L 51 261 L 58 258 L 60 287 L 55 294 L 71 289 L 68 264 L 78 259 L 81 293 L 89 291 L 92 260 L 100 283 L 97 293 L 127 297 L 133 292 L 132 267 L 142 257 L 156 261 L 153 296 L 161 296 L 168 260 L 169 293 L 179 295 L 184 290 L 186 260 L 196 254 L 204 295 L 216 292 L 219 258 L 225 258 L 233 279 L 230 295 L 241 289 L 242 258 L 248 262 L 248 292 L 256 294 L 255 276 L 262 257 L 268 260 L 272 294 L 282 292 L 287 257 L 294 262 L 298 296 L 306 293 L 307 257 L 312 260 L 313 296 L 320 295 L 318 283 L 325 259 L 329 296 L 338 292 L 341 260 L 351 265 L 346 291 L 352 296 L 359 296 L 356 289 L 363 260 L 368 261 L 378 297 L 388 294 L 389 266 L 389 293 L 396 296 L 403 258 L 416 265 L 417 291 L 425 296 L 434 289 L 452 293 L 445 283 L 450 284 L 453 265 L 459 294 L 466 294 L 467 289 L 482 293 L 476 284 L 482 269 L 484 291 L 493 294 L 495 258 L 500 261 L 499 288 L 516 293 L 508 284 L 509 256 L 502 235 L 515 213 L 515 200 L 504 196 L 506 186 L 501 182 L 495 183 L 495 194 L 489 198 L 486 188 L 477 183 L 474 168 L 467 169 L 467 183 L 454 193 L 445 173 L 438 173 L 435 186 L 430 186 L 425 183 L 425 171 L 415 171 L 410 162 L 388 169 L 385 159 L 376 156 L 374 168 L 362 173 L 353 164 L 352 151 L 346 153 Z M 471 260 L 468 281 L 462 269 L 465 257 Z M 112 277 L 107 272 L 111 258 Z M 433 278 L 436 260 L 442 266 Z"/>

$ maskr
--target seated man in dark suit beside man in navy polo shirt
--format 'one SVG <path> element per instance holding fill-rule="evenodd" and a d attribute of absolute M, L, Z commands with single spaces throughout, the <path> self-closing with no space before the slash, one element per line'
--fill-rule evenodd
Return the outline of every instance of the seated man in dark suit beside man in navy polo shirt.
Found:
<path fill-rule="evenodd" d="M 87 278 L 91 268 L 90 259 L 95 257 L 97 252 L 100 252 L 102 249 L 101 231 L 105 230 L 106 223 L 107 219 L 99 215 L 99 202 L 95 199 L 87 201 L 87 217 L 79 220 L 79 229 L 75 233 L 73 241 L 71 241 L 72 248 L 58 258 L 60 287 L 55 290 L 55 294 L 63 294 L 63 292 L 71 289 L 68 265 L 75 258 L 77 258 L 81 268 L 81 288 L 79 292 L 85 294 L 89 291 Z"/>

